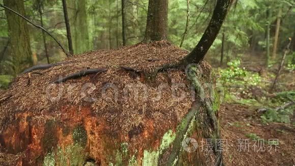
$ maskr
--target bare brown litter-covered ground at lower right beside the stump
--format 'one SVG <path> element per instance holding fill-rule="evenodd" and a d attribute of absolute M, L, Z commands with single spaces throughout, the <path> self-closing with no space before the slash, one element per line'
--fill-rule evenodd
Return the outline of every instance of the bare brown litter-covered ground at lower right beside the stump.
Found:
<path fill-rule="evenodd" d="M 255 109 L 247 105 L 226 103 L 220 110 L 222 139 L 227 140 L 225 165 L 295 165 L 294 126 L 274 122 L 263 125 Z M 258 145 L 256 139 L 264 142 Z M 276 150 L 270 149 L 269 139 L 278 139 Z"/>

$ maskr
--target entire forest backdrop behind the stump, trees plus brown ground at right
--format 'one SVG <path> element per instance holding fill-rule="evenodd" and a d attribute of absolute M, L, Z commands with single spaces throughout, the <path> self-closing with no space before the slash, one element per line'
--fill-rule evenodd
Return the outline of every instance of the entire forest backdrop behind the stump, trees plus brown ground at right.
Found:
<path fill-rule="evenodd" d="M 193 50 L 216 3 L 170 0 L 167 40 Z M 28 67 L 56 64 L 69 54 L 124 49 L 141 42 L 148 5 L 148 0 L 0 0 L 0 94 Z M 276 138 L 283 143 L 279 155 L 225 152 L 227 164 L 295 164 L 294 20 L 294 0 L 234 0 L 206 53 L 220 92 L 221 137 Z M 31 73 L 25 74 L 31 78 Z M 233 142 L 231 152 L 232 147 Z"/>

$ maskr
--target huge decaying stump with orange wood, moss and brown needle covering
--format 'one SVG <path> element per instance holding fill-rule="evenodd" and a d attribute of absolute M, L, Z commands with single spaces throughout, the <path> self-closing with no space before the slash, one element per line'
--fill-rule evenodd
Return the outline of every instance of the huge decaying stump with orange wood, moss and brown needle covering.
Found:
<path fill-rule="evenodd" d="M 18 165 L 219 163 L 218 147 L 185 145 L 188 137 L 198 145 L 219 138 L 210 65 L 202 62 L 187 75 L 166 68 L 186 54 L 166 41 L 137 44 L 18 76 L 2 96 L 12 95 L 0 106 L 1 152 L 19 156 Z M 107 71 L 51 83 L 93 68 Z"/>

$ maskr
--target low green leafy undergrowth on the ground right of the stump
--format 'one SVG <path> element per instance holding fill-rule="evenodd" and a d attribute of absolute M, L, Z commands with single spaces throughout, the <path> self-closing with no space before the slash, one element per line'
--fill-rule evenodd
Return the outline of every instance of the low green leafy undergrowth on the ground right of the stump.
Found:
<path fill-rule="evenodd" d="M 223 101 L 248 105 L 257 109 L 265 108 L 265 112 L 260 116 L 264 124 L 291 123 L 290 117 L 293 115 L 295 104 L 290 104 L 285 108 L 279 106 L 294 102 L 295 91 L 283 91 L 270 95 L 268 92 L 270 84 L 265 82 L 273 79 L 273 75 L 273 73 L 268 73 L 268 76 L 261 77 L 258 73 L 247 71 L 241 67 L 240 59 L 227 63 L 227 68 L 219 69 L 218 83 L 224 89 Z M 258 95 L 255 94 L 257 91 Z"/>

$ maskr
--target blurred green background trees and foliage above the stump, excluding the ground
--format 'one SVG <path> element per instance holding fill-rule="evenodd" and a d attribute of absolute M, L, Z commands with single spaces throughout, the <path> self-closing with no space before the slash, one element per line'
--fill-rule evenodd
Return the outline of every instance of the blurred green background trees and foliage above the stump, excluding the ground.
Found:
<path fill-rule="evenodd" d="M 148 1 L 73 0 L 67 2 L 74 54 L 93 49 L 119 48 L 123 45 L 138 43 L 143 39 Z M 122 2 L 124 2 L 123 12 Z M 0 3 L 3 4 L 3 1 L 0 1 Z M 188 6 L 187 3 L 189 3 Z M 186 33 L 182 47 L 191 50 L 194 44 L 199 41 L 210 21 L 215 3 L 215 1 L 208 0 L 170 1 L 168 40 L 175 45 L 181 45 L 184 33 Z M 18 8 L 23 8 L 26 18 L 37 25 L 42 25 L 67 47 L 67 32 L 62 1 L 24 1 L 23 4 L 18 4 Z M 186 26 L 188 11 L 189 22 L 188 26 Z M 122 17 L 123 13 L 124 17 Z M 20 66 L 28 67 L 28 64 L 30 64 L 17 64 L 18 61 L 14 61 L 14 59 L 21 57 L 21 55 L 13 54 L 11 51 L 8 21 L 9 19 L 20 19 L 17 17 L 6 17 L 5 10 L 0 10 L 0 73 L 2 74 L 2 87 L 7 86 L 6 78 L 11 78 L 24 69 L 18 69 Z M 222 30 L 206 58 L 219 62 L 221 52 L 223 52 L 222 61 L 226 64 L 226 62 L 244 54 L 251 54 L 252 57 L 261 57 L 262 61 L 268 67 L 271 67 L 280 58 L 277 54 L 283 53 L 282 50 L 287 46 L 288 38 L 295 38 L 294 20 L 295 9 L 292 2 L 285 0 L 240 0 L 234 2 Z M 16 26 L 18 25 L 12 25 L 10 31 L 13 32 Z M 279 29 L 277 33 L 276 29 Z M 43 34 L 40 29 L 30 24 L 28 25 L 28 31 L 30 32 L 30 37 L 28 37 L 30 38 L 30 48 L 26 49 L 31 49 L 28 52 L 32 52 L 30 54 L 33 56 L 32 63 L 34 65 L 47 62 L 55 63 L 65 58 L 56 42 Z M 125 35 L 122 35 L 123 32 Z M 17 34 L 11 33 L 11 35 Z M 277 42 L 275 42 L 276 40 Z M 276 47 L 276 51 L 273 53 L 272 48 L 274 47 Z M 21 50 L 21 48 L 19 49 Z M 295 42 L 292 42 L 291 49 L 295 49 Z M 270 50 L 269 53 L 267 53 L 267 50 Z M 268 59 L 267 57 L 271 58 Z M 289 54 L 286 61 L 286 65 L 291 68 L 293 68 L 293 57 Z"/>

